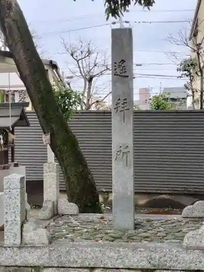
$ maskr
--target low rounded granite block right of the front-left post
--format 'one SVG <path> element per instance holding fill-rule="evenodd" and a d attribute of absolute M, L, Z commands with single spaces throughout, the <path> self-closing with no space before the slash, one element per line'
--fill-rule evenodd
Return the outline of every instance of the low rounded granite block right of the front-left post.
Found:
<path fill-rule="evenodd" d="M 30 218 L 22 226 L 22 244 L 27 245 L 46 245 L 49 243 L 48 231 L 37 219 Z"/>

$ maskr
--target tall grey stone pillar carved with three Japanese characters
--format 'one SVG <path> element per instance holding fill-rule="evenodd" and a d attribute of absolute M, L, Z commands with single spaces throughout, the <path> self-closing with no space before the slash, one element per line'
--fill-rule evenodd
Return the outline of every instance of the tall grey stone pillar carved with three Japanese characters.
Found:
<path fill-rule="evenodd" d="M 113 227 L 135 225 L 133 161 L 133 34 L 112 29 Z"/>

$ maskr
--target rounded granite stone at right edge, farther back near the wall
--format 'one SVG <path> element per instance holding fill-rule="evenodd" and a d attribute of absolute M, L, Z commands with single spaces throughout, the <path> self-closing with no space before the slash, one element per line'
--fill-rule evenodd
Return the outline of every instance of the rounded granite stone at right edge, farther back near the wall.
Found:
<path fill-rule="evenodd" d="M 204 217 L 204 201 L 197 201 L 194 205 L 189 205 L 184 208 L 182 217 Z"/>

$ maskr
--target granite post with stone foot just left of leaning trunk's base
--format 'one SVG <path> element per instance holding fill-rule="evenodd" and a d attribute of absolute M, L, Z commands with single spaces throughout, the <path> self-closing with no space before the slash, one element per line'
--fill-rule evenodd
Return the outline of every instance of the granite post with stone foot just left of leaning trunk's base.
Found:
<path fill-rule="evenodd" d="M 44 202 L 40 211 L 40 219 L 50 219 L 58 213 L 59 163 L 47 162 L 43 165 Z"/>

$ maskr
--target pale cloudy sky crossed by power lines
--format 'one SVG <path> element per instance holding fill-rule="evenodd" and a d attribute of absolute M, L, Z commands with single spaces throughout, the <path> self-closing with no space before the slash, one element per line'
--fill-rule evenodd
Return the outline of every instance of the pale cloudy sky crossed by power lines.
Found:
<path fill-rule="evenodd" d="M 18 2 L 30 28 L 38 36 L 37 43 L 44 51 L 44 57 L 57 61 L 66 76 L 71 76 L 68 68 L 75 66 L 72 59 L 63 54 L 62 38 L 70 43 L 76 43 L 79 37 L 85 42 L 91 40 L 99 53 L 106 53 L 111 62 L 111 28 L 119 25 L 112 24 L 116 21 L 114 18 L 106 21 L 103 0 Z M 196 3 L 197 0 L 156 0 L 150 11 L 132 6 L 125 13 L 123 20 L 130 23 L 124 26 L 132 27 L 134 36 L 134 100 L 138 100 L 139 88 L 149 87 L 154 95 L 160 87 L 183 86 L 184 80 L 177 79 L 177 61 L 169 52 L 178 53 L 177 56 L 182 60 L 188 50 L 172 45 L 167 36 L 171 34 L 176 37 L 180 30 L 189 29 L 188 21 L 193 19 Z M 74 68 L 74 71 L 77 70 Z M 101 77 L 97 81 L 99 96 L 103 97 L 111 90 L 110 82 L 110 76 Z M 74 78 L 72 87 L 79 90 L 83 83 Z"/>

